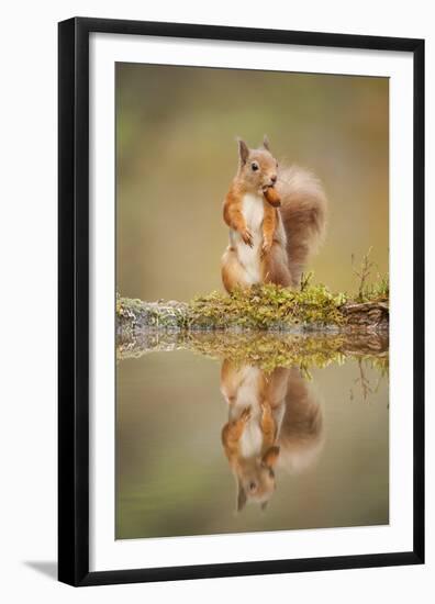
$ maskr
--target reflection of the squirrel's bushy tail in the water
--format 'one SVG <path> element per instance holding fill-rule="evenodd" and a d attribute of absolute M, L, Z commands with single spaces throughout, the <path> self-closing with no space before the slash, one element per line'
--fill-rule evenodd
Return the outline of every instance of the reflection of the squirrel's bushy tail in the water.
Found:
<path fill-rule="evenodd" d="M 286 413 L 279 434 L 279 466 L 303 472 L 317 458 L 324 443 L 323 413 L 319 399 L 299 369 L 290 369 Z"/>

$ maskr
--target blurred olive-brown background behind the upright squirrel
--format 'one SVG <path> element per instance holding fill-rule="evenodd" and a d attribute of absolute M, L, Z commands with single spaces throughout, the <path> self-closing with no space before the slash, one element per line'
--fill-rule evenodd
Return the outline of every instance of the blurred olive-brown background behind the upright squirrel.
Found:
<path fill-rule="evenodd" d="M 355 291 L 352 256 L 388 271 L 387 78 L 116 64 L 116 289 L 143 300 L 222 290 L 222 203 L 236 136 L 269 136 L 330 199 L 316 282 Z"/>

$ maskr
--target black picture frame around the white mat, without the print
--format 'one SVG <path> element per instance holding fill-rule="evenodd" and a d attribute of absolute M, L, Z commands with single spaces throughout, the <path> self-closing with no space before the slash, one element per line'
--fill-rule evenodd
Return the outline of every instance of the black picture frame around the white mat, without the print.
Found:
<path fill-rule="evenodd" d="M 89 34 L 158 35 L 413 54 L 413 549 L 89 572 Z M 58 24 L 58 579 L 70 585 L 424 563 L 424 41 L 74 18 Z"/>

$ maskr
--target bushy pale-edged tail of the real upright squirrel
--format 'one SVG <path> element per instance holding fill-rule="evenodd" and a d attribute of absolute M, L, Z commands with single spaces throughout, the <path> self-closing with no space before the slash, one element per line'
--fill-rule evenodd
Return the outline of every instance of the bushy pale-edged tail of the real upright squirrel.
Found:
<path fill-rule="evenodd" d="M 324 238 L 327 200 L 320 180 L 299 166 L 280 170 L 277 189 L 292 286 L 298 287 L 308 257 Z"/>

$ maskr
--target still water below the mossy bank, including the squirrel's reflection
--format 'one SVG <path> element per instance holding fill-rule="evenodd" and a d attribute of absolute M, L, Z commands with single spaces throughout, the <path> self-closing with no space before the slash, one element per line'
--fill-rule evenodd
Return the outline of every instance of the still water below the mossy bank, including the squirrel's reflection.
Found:
<path fill-rule="evenodd" d="M 116 538 L 388 524 L 386 366 L 321 365 L 119 360 Z"/>

